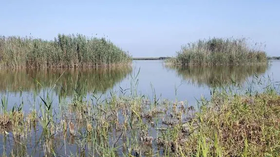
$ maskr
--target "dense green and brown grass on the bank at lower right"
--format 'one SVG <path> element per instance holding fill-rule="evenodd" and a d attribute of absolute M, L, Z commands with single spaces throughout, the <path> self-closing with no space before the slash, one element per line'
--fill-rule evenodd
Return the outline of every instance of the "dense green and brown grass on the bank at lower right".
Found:
<path fill-rule="evenodd" d="M 279 156 L 279 104 L 276 93 L 211 98 L 193 121 L 198 133 L 190 136 L 190 148 L 203 156 Z M 191 145 L 190 145 L 191 144 Z M 203 145 L 202 145 L 203 144 Z M 202 147 L 203 146 L 203 147 Z"/>

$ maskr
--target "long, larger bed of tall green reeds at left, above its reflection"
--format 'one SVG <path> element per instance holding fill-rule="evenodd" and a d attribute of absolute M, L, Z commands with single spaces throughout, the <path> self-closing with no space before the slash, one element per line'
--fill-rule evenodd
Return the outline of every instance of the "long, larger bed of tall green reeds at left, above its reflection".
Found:
<path fill-rule="evenodd" d="M 54 40 L 0 36 L 1 68 L 103 67 L 131 63 L 131 56 L 110 40 L 60 35 Z"/>

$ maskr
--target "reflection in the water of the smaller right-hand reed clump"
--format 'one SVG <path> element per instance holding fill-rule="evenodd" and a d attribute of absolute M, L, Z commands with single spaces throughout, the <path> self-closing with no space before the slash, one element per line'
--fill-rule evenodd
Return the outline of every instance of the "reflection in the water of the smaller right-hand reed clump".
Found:
<path fill-rule="evenodd" d="M 268 65 L 254 66 L 180 66 L 165 64 L 165 68 L 175 70 L 178 76 L 191 83 L 221 87 L 223 85 L 242 84 L 254 73 L 261 74 Z"/>

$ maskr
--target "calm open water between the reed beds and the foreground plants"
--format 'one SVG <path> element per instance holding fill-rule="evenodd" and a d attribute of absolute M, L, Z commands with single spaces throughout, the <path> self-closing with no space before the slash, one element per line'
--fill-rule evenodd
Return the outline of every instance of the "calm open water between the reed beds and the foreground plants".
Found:
<path fill-rule="evenodd" d="M 30 108 L 30 101 L 37 94 L 53 88 L 57 100 L 58 91 L 71 98 L 77 81 L 85 83 L 88 96 L 92 92 L 107 96 L 115 91 L 121 94 L 131 88 L 131 75 L 139 80 L 137 91 L 153 97 L 168 100 L 187 101 L 195 105 L 202 96 L 208 98 L 210 90 L 224 85 L 246 86 L 255 74 L 271 77 L 273 82 L 280 81 L 279 60 L 272 60 L 268 66 L 216 66 L 216 67 L 180 67 L 168 66 L 161 60 L 133 61 L 132 67 L 99 69 L 56 69 L 56 70 L 0 70 L 0 96 L 8 98 L 9 107 L 24 103 L 24 110 Z M 57 81 L 57 82 L 56 82 Z"/>

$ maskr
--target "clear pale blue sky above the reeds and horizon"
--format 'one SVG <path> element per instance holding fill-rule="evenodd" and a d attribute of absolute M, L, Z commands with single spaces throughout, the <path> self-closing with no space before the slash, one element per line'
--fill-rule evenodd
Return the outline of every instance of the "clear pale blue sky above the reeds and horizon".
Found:
<path fill-rule="evenodd" d="M 0 35 L 104 36 L 134 57 L 209 37 L 248 37 L 280 56 L 280 0 L 2 0 Z"/>

